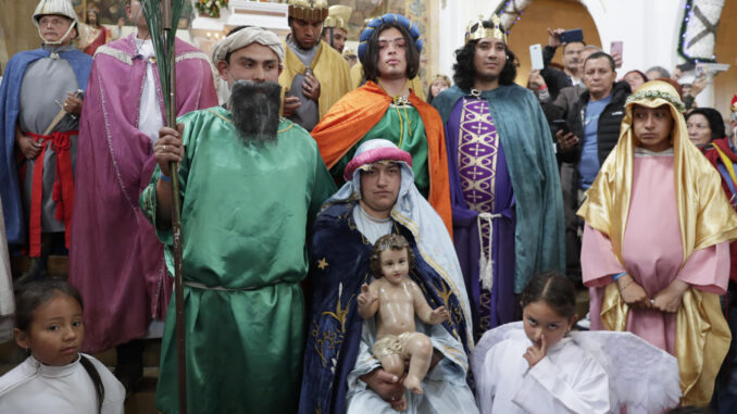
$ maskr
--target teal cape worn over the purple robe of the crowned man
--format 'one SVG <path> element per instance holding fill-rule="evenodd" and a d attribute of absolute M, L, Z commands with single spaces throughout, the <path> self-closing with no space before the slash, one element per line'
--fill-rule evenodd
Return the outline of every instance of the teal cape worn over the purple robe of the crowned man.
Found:
<path fill-rule="evenodd" d="M 442 123 L 470 93 L 452 86 L 435 97 Z M 565 226 L 563 199 L 553 140 L 535 95 L 519 85 L 501 85 L 482 92 L 504 149 L 516 203 L 514 229 L 514 291 L 522 292 L 529 279 L 541 272 L 565 272 Z M 446 131 L 446 137 L 448 134 Z M 463 201 L 457 165 L 457 145 L 447 142 L 453 214 L 474 215 Z M 455 221 L 455 217 L 453 217 Z"/>

